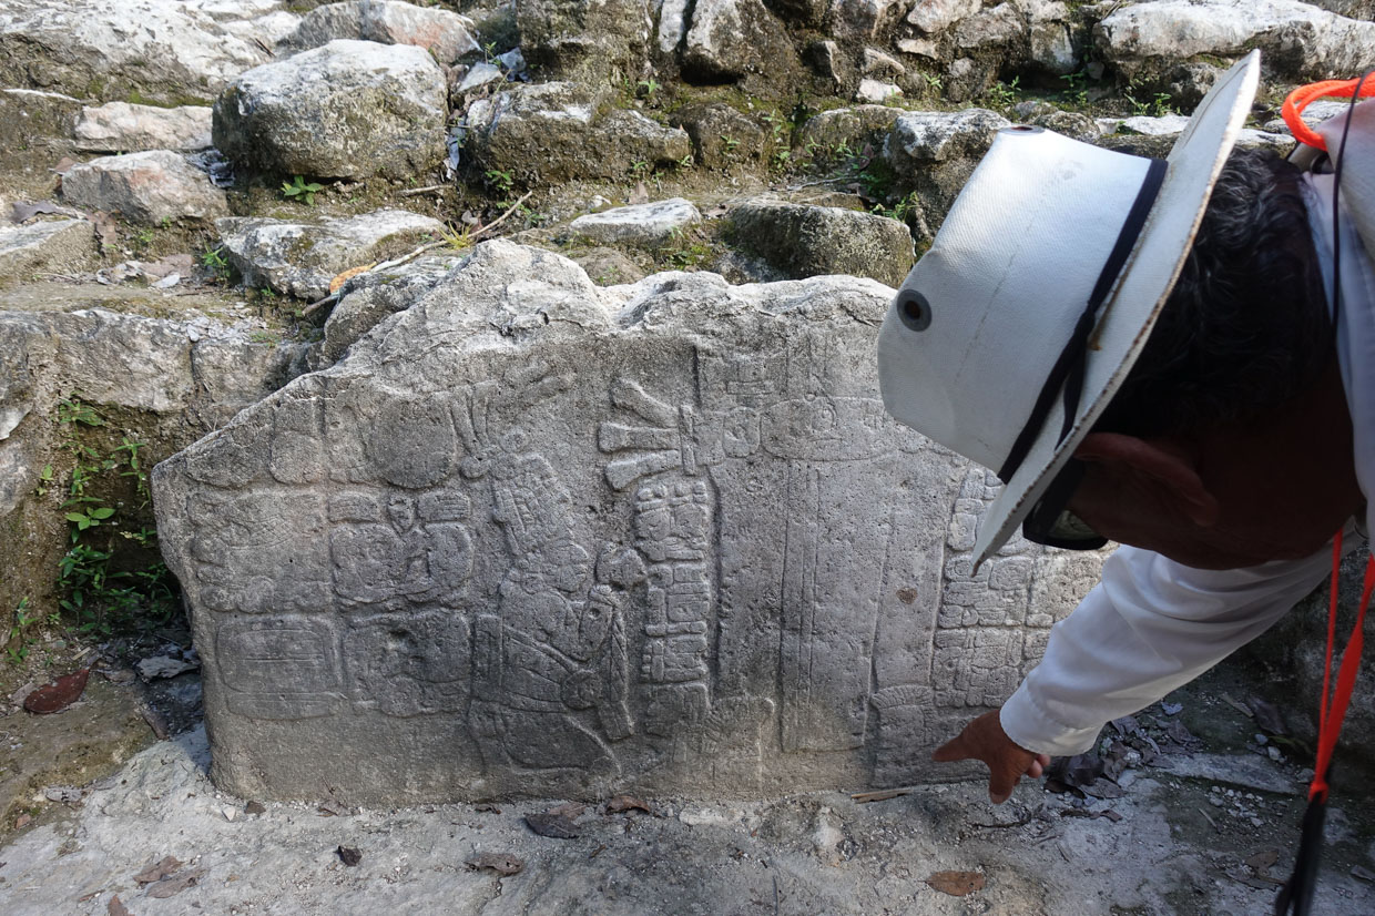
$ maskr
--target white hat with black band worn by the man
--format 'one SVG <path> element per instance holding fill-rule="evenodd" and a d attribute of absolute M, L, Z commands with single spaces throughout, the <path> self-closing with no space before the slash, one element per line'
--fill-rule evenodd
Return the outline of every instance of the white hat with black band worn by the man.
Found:
<path fill-rule="evenodd" d="M 1037 505 L 1140 355 L 1258 80 L 1253 51 L 1163 161 L 1000 131 L 902 283 L 879 334 L 884 406 L 1004 479 L 976 565 Z"/>

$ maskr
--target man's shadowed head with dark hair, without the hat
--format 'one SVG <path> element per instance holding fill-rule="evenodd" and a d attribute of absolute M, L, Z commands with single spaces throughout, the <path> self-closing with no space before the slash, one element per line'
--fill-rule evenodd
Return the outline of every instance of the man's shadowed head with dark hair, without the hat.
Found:
<path fill-rule="evenodd" d="M 1313 553 L 1360 505 L 1298 171 L 1236 151 L 1070 510 L 1187 565 Z"/>

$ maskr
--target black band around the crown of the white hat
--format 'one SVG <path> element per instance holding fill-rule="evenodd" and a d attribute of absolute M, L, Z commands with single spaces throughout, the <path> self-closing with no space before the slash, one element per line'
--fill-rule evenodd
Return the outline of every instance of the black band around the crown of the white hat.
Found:
<path fill-rule="evenodd" d="M 998 477 L 1004 483 L 1012 480 L 1012 475 L 1026 461 L 1027 452 L 1031 451 L 1031 443 L 1035 441 L 1045 425 L 1045 418 L 1050 414 L 1050 407 L 1055 406 L 1055 396 L 1060 393 L 1062 388 L 1064 391 L 1064 425 L 1060 429 L 1060 441 L 1064 441 L 1070 429 L 1074 428 L 1074 417 L 1079 410 L 1079 397 L 1084 393 L 1084 377 L 1088 369 L 1089 336 L 1097 323 L 1099 308 L 1103 307 L 1103 300 L 1107 298 L 1118 274 L 1122 272 L 1122 265 L 1126 264 L 1126 259 L 1136 246 L 1136 239 L 1145 226 L 1145 217 L 1151 213 L 1151 205 L 1155 204 L 1155 195 L 1160 191 L 1160 183 L 1165 182 L 1165 160 L 1150 161 L 1141 190 L 1137 191 L 1136 201 L 1132 202 L 1132 209 L 1126 215 L 1126 221 L 1122 223 L 1112 252 L 1103 263 L 1103 271 L 1093 285 L 1093 292 L 1089 294 L 1089 301 L 1085 304 L 1079 320 L 1074 323 L 1074 333 L 1070 334 L 1068 342 L 1060 351 L 1055 366 L 1050 367 L 1050 374 L 1046 375 L 1045 384 L 1041 386 L 1041 393 L 1035 399 L 1026 426 L 1022 428 L 1016 441 L 1012 443 L 1006 461 L 998 469 Z"/>

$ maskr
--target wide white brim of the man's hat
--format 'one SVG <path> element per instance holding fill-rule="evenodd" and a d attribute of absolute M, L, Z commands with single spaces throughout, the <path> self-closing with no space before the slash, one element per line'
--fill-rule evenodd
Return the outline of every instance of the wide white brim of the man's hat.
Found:
<path fill-rule="evenodd" d="M 1166 157 L 1169 166 L 1155 205 L 1093 330 L 1078 417 L 1063 441 L 1063 407 L 1057 403 L 1046 417 L 1022 466 L 1004 481 L 983 516 L 975 542 L 975 568 L 1012 536 L 1141 355 L 1188 257 L 1213 186 L 1242 132 L 1260 74 L 1260 51 L 1251 51 L 1213 85 Z"/>

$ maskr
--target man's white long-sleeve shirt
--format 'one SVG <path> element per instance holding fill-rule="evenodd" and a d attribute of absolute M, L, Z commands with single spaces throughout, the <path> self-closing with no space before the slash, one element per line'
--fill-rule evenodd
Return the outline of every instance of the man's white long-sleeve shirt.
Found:
<path fill-rule="evenodd" d="M 1336 356 L 1352 415 L 1356 477 L 1375 531 L 1375 102 L 1356 107 L 1341 202 L 1342 308 Z M 1323 124 L 1332 158 L 1345 116 Z M 1313 243 L 1332 275 L 1332 176 L 1304 176 Z M 1364 243 L 1363 243 L 1364 235 Z M 1332 298 L 1328 282 L 1328 300 Z M 1348 527 L 1348 549 L 1365 549 Z M 1192 681 L 1264 633 L 1331 569 L 1331 547 L 1306 560 L 1248 569 L 1194 569 L 1119 547 L 1103 580 L 1050 630 L 1045 657 L 1002 706 L 1002 729 L 1022 747 L 1082 754 L 1106 722 Z"/>

